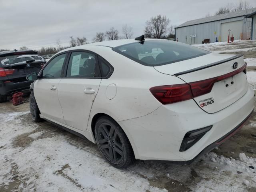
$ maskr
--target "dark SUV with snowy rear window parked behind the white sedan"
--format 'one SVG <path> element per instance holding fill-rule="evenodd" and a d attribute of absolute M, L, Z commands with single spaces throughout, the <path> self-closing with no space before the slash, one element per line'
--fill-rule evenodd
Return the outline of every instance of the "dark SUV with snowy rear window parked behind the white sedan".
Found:
<path fill-rule="evenodd" d="M 32 81 L 26 80 L 30 73 L 42 69 L 46 61 L 33 50 L 0 52 L 0 102 L 15 92 L 29 92 Z"/>

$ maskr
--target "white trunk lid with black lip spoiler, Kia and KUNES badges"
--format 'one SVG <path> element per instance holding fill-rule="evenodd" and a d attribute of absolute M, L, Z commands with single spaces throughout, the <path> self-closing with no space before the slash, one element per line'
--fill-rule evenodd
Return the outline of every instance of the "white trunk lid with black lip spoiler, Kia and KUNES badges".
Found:
<path fill-rule="evenodd" d="M 194 97 L 202 110 L 215 113 L 233 104 L 247 92 L 247 76 L 241 71 L 244 65 L 242 55 L 210 53 L 154 68 L 158 72 L 177 76 L 188 84 L 220 77 L 209 93 Z"/>

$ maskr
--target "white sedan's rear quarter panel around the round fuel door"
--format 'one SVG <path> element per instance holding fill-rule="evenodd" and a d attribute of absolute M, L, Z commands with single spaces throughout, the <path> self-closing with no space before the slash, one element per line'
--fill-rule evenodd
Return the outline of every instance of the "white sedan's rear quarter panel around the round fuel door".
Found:
<path fill-rule="evenodd" d="M 114 72 L 108 79 L 102 79 L 98 94 L 92 105 L 88 130 L 91 130 L 92 118 L 98 113 L 105 113 L 114 120 L 123 121 L 150 114 L 162 104 L 150 92 L 153 86 L 166 84 L 182 84 L 183 80 L 157 72 L 153 67 L 143 66 L 111 48 L 98 48 L 94 52 L 106 59 Z M 106 89 L 110 84 L 116 85 L 116 96 L 106 97 Z M 124 131 L 126 128 L 123 128 Z"/>

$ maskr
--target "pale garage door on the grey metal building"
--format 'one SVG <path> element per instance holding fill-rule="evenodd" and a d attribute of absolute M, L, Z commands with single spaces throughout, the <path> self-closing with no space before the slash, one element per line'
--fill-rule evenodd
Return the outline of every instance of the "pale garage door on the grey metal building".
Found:
<path fill-rule="evenodd" d="M 228 30 L 230 30 L 230 37 L 234 36 L 234 40 L 240 38 L 240 33 L 243 32 L 243 20 L 233 21 L 221 24 L 221 41 L 228 41 Z"/>

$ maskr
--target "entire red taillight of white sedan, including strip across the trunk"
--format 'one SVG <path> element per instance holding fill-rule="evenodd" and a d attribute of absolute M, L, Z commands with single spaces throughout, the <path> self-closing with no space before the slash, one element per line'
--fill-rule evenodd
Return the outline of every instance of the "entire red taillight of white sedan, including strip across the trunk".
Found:
<path fill-rule="evenodd" d="M 210 93 L 212 91 L 214 83 L 235 76 L 236 74 L 244 70 L 246 70 L 246 64 L 244 64 L 244 66 L 242 66 L 238 70 L 218 77 L 191 82 L 187 84 L 156 86 L 150 88 L 150 92 L 162 104 L 185 101 L 194 97 Z"/>

